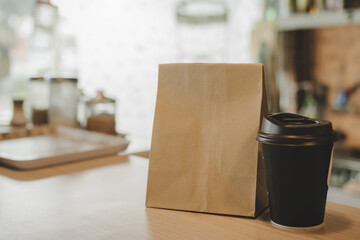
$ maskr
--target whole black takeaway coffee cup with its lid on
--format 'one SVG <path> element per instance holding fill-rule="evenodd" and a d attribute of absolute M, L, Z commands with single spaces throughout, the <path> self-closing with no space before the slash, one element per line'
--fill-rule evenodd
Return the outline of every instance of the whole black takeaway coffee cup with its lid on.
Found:
<path fill-rule="evenodd" d="M 265 160 L 271 220 L 287 227 L 324 221 L 336 133 L 329 121 L 279 113 L 263 119 L 257 140 Z"/>

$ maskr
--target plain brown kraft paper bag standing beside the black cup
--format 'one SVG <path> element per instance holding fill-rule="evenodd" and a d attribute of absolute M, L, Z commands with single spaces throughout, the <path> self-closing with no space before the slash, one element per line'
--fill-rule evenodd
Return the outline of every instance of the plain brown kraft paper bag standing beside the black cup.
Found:
<path fill-rule="evenodd" d="M 254 217 L 267 206 L 262 64 L 159 66 L 147 207 Z"/>

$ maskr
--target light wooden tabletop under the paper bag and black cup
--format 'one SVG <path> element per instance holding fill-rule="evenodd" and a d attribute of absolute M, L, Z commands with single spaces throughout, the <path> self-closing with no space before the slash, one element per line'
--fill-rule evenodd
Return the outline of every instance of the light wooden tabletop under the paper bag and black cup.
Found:
<path fill-rule="evenodd" d="M 316 230 L 259 218 L 145 208 L 148 160 L 100 159 L 16 171 L 0 167 L 0 239 L 360 239 L 360 209 L 328 202 Z"/>

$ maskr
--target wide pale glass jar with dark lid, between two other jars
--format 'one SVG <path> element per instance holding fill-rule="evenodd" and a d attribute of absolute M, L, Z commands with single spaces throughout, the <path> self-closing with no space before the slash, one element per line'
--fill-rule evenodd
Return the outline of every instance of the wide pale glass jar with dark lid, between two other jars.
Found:
<path fill-rule="evenodd" d="M 77 127 L 79 90 L 77 78 L 52 78 L 50 80 L 51 124 Z"/>

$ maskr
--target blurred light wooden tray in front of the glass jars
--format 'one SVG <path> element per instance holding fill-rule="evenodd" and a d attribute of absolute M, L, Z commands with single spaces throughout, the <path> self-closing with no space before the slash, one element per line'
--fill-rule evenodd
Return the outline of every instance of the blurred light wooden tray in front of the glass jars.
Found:
<path fill-rule="evenodd" d="M 64 126 L 0 133 L 0 163 L 27 170 L 116 154 L 129 145 L 123 137 Z"/>

